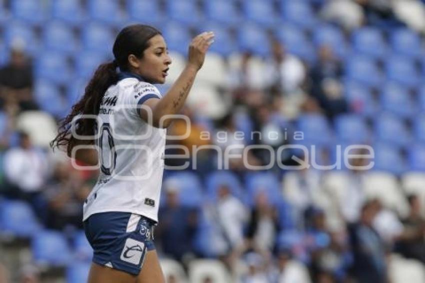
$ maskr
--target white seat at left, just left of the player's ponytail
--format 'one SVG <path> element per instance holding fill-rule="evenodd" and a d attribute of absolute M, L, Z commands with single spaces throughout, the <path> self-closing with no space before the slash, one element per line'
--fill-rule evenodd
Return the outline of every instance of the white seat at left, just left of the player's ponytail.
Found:
<path fill-rule="evenodd" d="M 49 148 L 49 142 L 57 133 L 55 119 L 44 111 L 21 112 L 16 118 L 16 128 L 27 132 L 32 143 L 42 148 Z"/>

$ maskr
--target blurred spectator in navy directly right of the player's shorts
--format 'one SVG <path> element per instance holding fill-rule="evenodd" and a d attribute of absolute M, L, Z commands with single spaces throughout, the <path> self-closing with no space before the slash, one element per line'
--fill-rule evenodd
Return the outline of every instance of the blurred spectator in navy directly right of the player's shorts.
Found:
<path fill-rule="evenodd" d="M 159 208 L 158 217 L 161 221 L 155 230 L 155 236 L 165 255 L 184 261 L 193 250 L 197 211 L 181 205 L 178 198 L 179 187 L 172 180 L 165 181 L 163 187 L 166 193 L 165 204 Z"/>

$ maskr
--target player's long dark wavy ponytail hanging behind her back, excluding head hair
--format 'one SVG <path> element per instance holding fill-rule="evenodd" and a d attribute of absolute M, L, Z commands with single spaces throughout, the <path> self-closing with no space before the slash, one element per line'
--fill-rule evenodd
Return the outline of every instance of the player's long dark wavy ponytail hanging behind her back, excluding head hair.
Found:
<path fill-rule="evenodd" d="M 72 148 L 78 143 L 71 132 L 72 120 L 79 115 L 97 115 L 99 113 L 100 102 L 103 95 L 112 84 L 118 81 L 116 72 L 118 64 L 116 60 L 100 64 L 88 82 L 81 99 L 72 106 L 70 113 L 59 123 L 58 134 L 50 142 L 54 147 L 66 146 L 66 151 L 70 155 Z M 92 118 L 81 118 L 74 121 L 75 132 L 79 135 L 94 135 L 95 120 Z M 93 141 L 86 140 L 91 144 Z"/>

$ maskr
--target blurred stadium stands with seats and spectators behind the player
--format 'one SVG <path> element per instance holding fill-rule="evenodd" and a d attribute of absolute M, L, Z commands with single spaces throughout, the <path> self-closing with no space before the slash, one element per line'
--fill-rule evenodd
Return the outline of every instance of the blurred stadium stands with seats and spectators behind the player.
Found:
<path fill-rule="evenodd" d="M 182 110 L 189 136 L 168 142 L 195 156 L 164 174 L 155 244 L 168 282 L 425 282 L 424 2 L 0 0 L 0 282 L 85 281 L 82 202 L 97 172 L 48 142 L 135 22 L 167 41 L 163 93 L 190 38 L 216 34 Z M 280 152 L 285 165 L 368 144 L 374 166 L 255 171 L 233 156 L 217 170 L 219 149 L 254 144 L 314 146 Z M 270 162 L 264 148 L 249 164 Z"/>

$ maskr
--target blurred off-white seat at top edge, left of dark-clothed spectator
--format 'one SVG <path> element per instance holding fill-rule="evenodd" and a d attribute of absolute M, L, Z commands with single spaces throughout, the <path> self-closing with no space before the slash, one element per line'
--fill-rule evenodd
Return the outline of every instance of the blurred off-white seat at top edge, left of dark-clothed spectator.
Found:
<path fill-rule="evenodd" d="M 329 0 L 320 10 L 323 19 L 340 24 L 346 30 L 360 27 L 364 22 L 363 9 L 352 0 Z"/>

